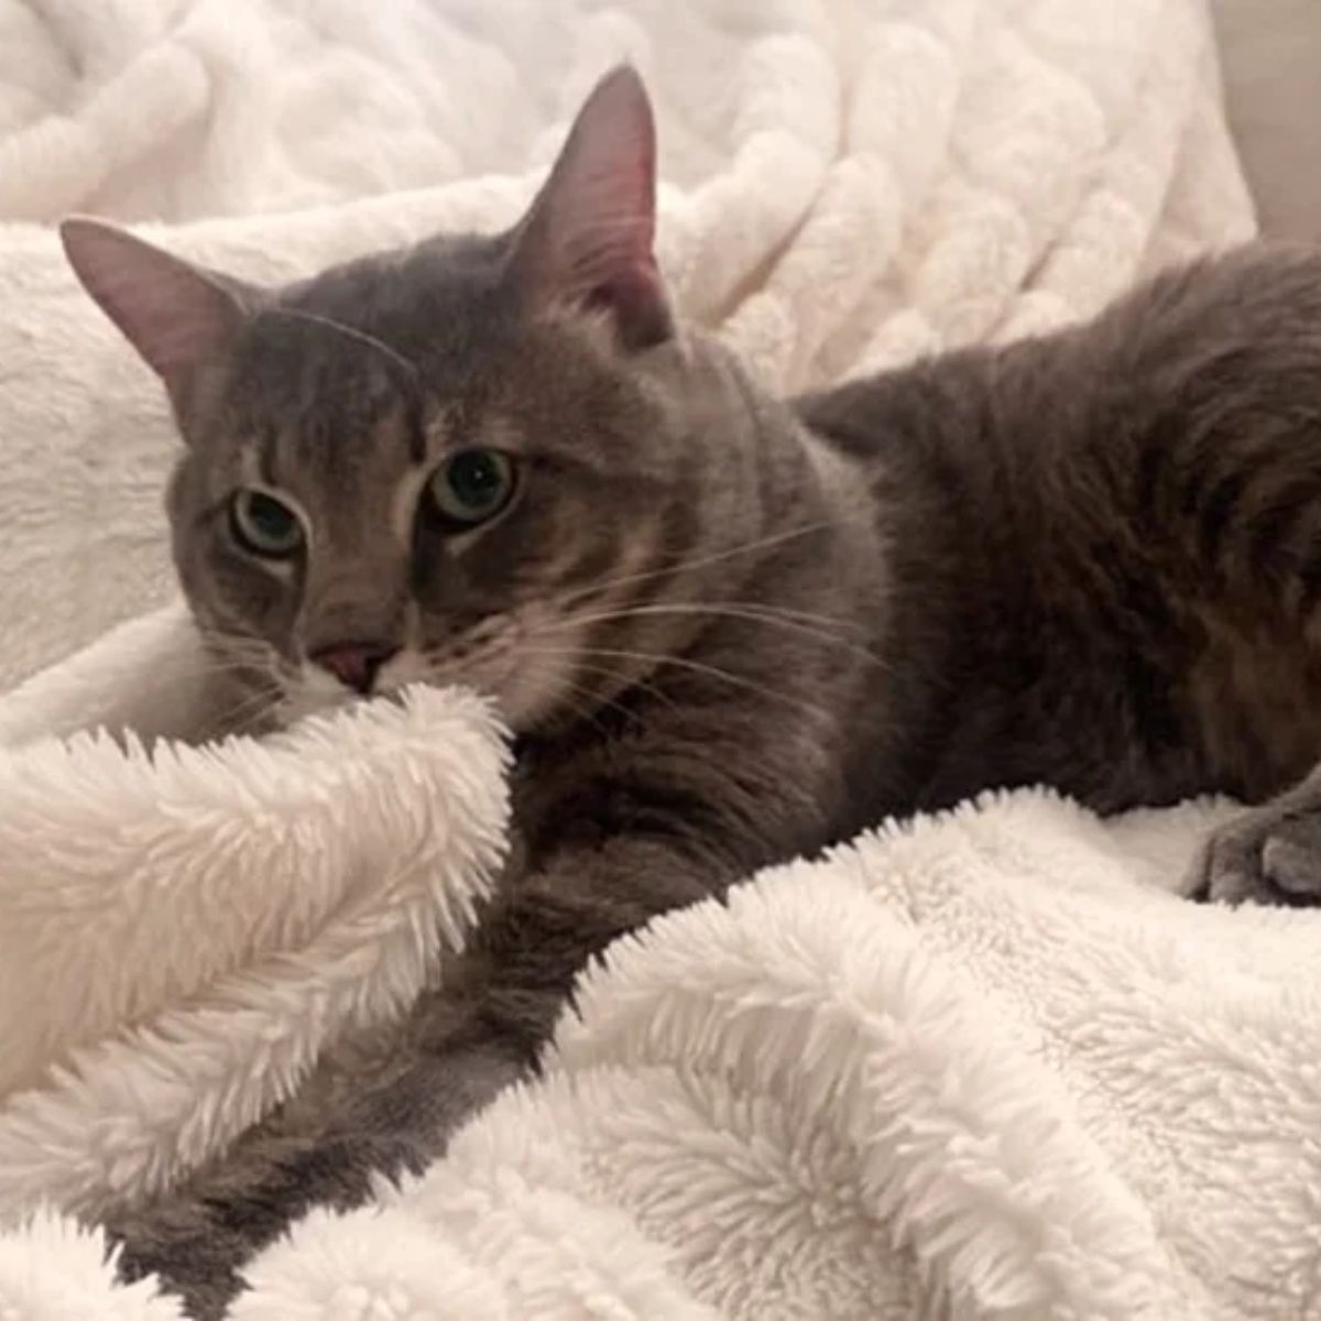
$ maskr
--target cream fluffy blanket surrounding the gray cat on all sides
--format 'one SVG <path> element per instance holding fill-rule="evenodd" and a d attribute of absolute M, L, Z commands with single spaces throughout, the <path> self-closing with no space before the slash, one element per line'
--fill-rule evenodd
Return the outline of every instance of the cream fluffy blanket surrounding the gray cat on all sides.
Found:
<path fill-rule="evenodd" d="M 1196 0 L 0 0 L 0 211 L 189 222 L 160 236 L 258 277 L 495 226 L 622 55 L 678 300 L 777 387 L 1251 232 Z M 165 598 L 172 441 L 45 226 L 0 231 L 0 297 L 3 683 Z M 57 1213 L 177 1178 L 398 1013 L 498 852 L 461 695 L 264 746 L 40 738 L 186 733 L 198 664 L 165 612 L 0 708 L 0 1314 L 177 1316 Z M 1317 921 L 1135 884 L 1211 812 L 1020 795 L 657 923 L 546 1082 L 303 1225 L 235 1316 L 1309 1314 Z"/>

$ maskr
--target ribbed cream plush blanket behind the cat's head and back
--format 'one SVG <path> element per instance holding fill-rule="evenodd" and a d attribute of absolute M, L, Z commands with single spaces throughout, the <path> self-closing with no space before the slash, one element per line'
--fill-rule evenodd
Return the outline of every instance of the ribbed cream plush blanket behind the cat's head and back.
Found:
<path fill-rule="evenodd" d="M 153 236 L 267 280 L 495 229 L 625 57 L 678 303 L 779 388 L 1252 230 L 1199 0 L 0 0 L 0 221 L 196 221 Z M 4 686 L 164 604 L 174 441 L 49 229 L 0 305 Z"/>

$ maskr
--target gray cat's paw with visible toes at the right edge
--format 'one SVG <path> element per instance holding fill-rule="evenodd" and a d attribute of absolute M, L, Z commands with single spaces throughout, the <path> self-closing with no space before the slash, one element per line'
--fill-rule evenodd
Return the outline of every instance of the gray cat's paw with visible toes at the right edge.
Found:
<path fill-rule="evenodd" d="M 1217 830 L 1189 892 L 1215 904 L 1321 906 L 1321 808 L 1267 803 Z"/>

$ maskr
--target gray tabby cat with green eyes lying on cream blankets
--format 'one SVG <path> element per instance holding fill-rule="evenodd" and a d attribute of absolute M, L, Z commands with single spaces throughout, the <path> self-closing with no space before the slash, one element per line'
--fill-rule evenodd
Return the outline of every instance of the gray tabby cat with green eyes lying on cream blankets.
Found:
<path fill-rule="evenodd" d="M 308 1206 L 443 1151 L 654 914 L 991 785 L 1262 802 L 1321 748 L 1321 259 L 1242 251 L 785 403 L 676 326 L 653 157 L 620 70 L 494 238 L 268 291 L 63 229 L 173 402 L 174 555 L 235 712 L 421 679 L 518 734 L 517 857 L 461 974 L 116 1218 L 124 1271 L 198 1317 Z M 1304 781 L 1197 882 L 1310 904 L 1318 859 Z"/>

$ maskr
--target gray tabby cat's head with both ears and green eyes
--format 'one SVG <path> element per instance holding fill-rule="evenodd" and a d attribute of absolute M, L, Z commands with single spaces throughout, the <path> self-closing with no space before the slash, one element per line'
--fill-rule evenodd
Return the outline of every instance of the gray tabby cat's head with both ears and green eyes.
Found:
<path fill-rule="evenodd" d="M 676 333 L 653 255 L 654 149 L 617 70 L 507 232 L 283 289 L 65 223 L 178 420 L 193 612 L 283 717 L 416 680 L 519 729 L 598 705 L 757 534 L 745 387 Z"/>

